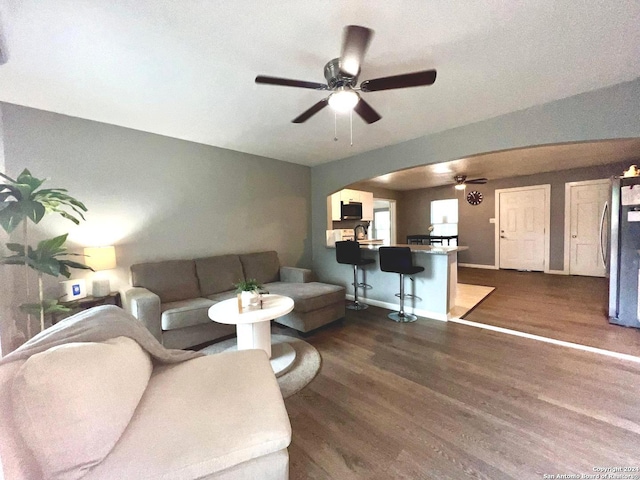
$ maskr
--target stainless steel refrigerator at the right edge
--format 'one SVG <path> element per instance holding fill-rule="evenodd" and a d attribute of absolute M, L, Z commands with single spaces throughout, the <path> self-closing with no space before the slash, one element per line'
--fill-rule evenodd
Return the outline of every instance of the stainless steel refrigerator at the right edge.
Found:
<path fill-rule="evenodd" d="M 640 177 L 614 178 L 609 236 L 609 322 L 640 328 Z"/>

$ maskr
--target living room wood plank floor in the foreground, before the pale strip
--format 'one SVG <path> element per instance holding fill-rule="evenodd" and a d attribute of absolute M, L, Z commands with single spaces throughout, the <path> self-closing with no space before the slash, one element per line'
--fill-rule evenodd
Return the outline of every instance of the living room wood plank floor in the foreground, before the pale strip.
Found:
<path fill-rule="evenodd" d="M 285 401 L 291 479 L 541 479 L 640 466 L 640 364 L 387 313 L 348 311 L 306 338 L 322 368 Z"/>

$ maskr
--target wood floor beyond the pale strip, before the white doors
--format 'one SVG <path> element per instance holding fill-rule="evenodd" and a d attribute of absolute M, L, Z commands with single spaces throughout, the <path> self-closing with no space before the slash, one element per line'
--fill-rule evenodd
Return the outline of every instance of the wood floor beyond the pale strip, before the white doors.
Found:
<path fill-rule="evenodd" d="M 640 330 L 607 319 L 607 279 L 459 268 L 458 281 L 496 287 L 465 320 L 640 356 Z"/>

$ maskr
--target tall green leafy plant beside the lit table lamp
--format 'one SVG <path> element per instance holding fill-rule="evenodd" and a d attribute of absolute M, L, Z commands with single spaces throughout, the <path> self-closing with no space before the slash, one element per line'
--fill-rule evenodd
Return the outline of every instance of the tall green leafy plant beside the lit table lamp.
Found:
<path fill-rule="evenodd" d="M 27 312 L 27 337 L 31 338 L 31 314 L 40 316 L 40 330 L 44 330 L 45 314 L 50 312 L 67 311 L 56 299 L 44 298 L 43 275 L 67 278 L 71 275 L 70 268 L 88 269 L 90 267 L 61 257 L 78 255 L 68 253 L 63 246 L 67 234 L 55 238 L 42 240 L 36 248 L 29 245 L 28 221 L 37 224 L 46 214 L 58 214 L 72 221 L 76 225 L 87 208 L 82 202 L 67 194 L 64 188 L 40 188 L 46 179 L 39 179 L 31 175 L 26 168 L 14 180 L 0 173 L 7 183 L 0 184 L 0 226 L 8 234 L 22 225 L 22 242 L 7 243 L 6 248 L 13 255 L 0 257 L 0 264 L 22 265 L 25 270 L 25 295 L 30 298 L 29 269 L 38 273 L 38 303 L 21 305 L 21 310 Z M 78 218 L 79 217 L 79 218 Z"/>

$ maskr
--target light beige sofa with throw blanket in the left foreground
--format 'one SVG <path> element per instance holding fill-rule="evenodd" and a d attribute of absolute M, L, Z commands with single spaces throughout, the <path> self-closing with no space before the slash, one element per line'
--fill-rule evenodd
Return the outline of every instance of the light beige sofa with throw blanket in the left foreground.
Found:
<path fill-rule="evenodd" d="M 167 350 L 94 307 L 0 361 L 7 480 L 286 480 L 291 425 L 261 350 Z"/>

